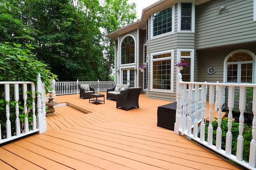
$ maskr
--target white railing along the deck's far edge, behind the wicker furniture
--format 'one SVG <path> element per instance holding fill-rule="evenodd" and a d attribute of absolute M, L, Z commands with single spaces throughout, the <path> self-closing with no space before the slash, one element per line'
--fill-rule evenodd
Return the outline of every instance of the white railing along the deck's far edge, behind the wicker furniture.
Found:
<path fill-rule="evenodd" d="M 95 92 L 104 92 L 107 89 L 113 88 L 115 85 L 114 81 L 76 81 L 76 82 L 56 82 L 52 81 L 52 88 L 54 88 L 55 95 L 64 94 L 78 94 L 79 84 L 90 84 L 94 88 Z"/>

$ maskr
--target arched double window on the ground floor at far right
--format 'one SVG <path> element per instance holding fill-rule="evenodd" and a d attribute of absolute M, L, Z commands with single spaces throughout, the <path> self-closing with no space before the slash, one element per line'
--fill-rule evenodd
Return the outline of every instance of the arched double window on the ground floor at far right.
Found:
<path fill-rule="evenodd" d="M 226 82 L 250 83 L 254 80 L 254 57 L 246 51 L 230 53 L 226 58 Z"/>

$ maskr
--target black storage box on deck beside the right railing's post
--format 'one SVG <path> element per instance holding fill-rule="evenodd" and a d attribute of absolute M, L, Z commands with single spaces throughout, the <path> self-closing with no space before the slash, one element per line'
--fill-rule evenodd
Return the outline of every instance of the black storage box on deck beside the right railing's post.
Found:
<path fill-rule="evenodd" d="M 158 106 L 157 109 L 157 126 L 174 131 L 176 121 L 177 102 Z"/>

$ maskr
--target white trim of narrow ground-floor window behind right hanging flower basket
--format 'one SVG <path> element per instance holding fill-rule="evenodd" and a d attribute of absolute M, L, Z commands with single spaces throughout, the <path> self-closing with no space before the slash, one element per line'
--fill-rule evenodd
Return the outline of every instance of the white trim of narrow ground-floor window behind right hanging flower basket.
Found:
<path fill-rule="evenodd" d="M 188 51 L 190 52 L 190 56 L 180 56 L 181 52 Z M 177 62 L 182 58 L 182 59 L 190 59 L 190 82 L 194 82 L 194 54 L 195 50 L 194 49 L 177 49 Z M 180 73 L 180 70 L 176 66 L 176 72 L 178 74 Z"/>

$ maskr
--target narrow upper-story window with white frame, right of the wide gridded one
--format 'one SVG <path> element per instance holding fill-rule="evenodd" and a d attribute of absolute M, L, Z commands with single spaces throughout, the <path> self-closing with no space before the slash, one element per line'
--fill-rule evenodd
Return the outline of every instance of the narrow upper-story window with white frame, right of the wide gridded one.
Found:
<path fill-rule="evenodd" d="M 188 0 L 189 1 L 189 0 Z M 194 2 L 178 3 L 178 32 L 194 33 L 195 5 Z"/>

